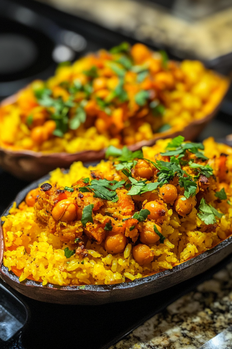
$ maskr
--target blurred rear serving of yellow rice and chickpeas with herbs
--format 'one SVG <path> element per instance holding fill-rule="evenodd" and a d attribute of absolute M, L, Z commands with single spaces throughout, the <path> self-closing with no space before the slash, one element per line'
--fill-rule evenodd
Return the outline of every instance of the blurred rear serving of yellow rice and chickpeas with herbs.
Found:
<path fill-rule="evenodd" d="M 228 80 L 200 61 L 127 43 L 62 65 L 0 106 L 0 146 L 43 153 L 99 151 L 181 132 L 213 112 Z"/>

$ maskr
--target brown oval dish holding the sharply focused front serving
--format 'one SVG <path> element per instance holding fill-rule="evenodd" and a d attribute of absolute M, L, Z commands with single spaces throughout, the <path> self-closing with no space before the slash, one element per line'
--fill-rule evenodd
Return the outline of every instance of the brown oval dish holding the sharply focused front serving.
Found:
<path fill-rule="evenodd" d="M 33 182 L 19 192 L 15 199 L 17 205 L 24 200 L 26 194 L 30 190 L 37 188 L 41 182 L 48 180 L 48 178 L 49 175 Z M 9 213 L 9 209 L 12 205 L 13 203 L 3 213 L 4 216 Z M 122 282 L 113 285 L 86 285 L 84 289 L 80 288 L 80 286 L 58 286 L 54 284 L 42 286 L 41 282 L 33 280 L 19 282 L 18 276 L 13 272 L 9 272 L 8 268 L 3 266 L 3 252 L 3 229 L 0 225 L 0 277 L 3 281 L 23 295 L 41 300 L 42 302 L 93 305 L 121 302 L 123 300 L 147 296 L 201 274 L 232 252 L 232 236 L 210 250 L 179 264 L 173 269 L 168 269 L 130 282 Z"/>

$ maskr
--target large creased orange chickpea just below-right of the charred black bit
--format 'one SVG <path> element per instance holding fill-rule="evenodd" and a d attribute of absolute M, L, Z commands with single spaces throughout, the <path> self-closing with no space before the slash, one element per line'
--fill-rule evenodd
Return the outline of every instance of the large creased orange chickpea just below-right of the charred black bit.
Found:
<path fill-rule="evenodd" d="M 71 222 L 77 217 L 76 206 L 70 200 L 61 200 L 56 203 L 51 211 L 55 221 Z"/>

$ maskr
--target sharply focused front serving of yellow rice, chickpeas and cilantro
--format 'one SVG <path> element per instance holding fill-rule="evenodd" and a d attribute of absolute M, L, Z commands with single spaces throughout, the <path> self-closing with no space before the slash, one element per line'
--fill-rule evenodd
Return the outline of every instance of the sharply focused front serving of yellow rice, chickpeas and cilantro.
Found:
<path fill-rule="evenodd" d="M 229 146 L 178 136 L 143 152 L 111 146 L 107 157 L 94 167 L 56 169 L 1 218 L 3 264 L 19 281 L 131 281 L 172 269 L 231 235 Z"/>

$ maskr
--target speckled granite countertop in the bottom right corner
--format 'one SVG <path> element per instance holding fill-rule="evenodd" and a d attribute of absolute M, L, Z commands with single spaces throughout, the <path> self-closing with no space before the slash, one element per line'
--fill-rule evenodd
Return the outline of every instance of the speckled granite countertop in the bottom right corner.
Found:
<path fill-rule="evenodd" d="M 231 332 L 217 335 L 231 325 L 232 263 L 110 349 L 229 349 Z"/>

